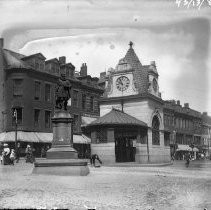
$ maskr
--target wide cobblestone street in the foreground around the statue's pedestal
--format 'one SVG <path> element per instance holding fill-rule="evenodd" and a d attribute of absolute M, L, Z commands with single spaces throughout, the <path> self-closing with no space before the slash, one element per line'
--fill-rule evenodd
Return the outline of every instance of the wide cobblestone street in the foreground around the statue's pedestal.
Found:
<path fill-rule="evenodd" d="M 90 167 L 87 177 L 0 166 L 1 208 L 211 209 L 211 161 L 165 167 Z"/>

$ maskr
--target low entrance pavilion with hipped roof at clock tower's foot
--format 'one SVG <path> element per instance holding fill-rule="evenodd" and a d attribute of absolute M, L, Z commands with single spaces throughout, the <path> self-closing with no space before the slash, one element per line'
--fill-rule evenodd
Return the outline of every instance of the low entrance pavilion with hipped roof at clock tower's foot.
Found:
<path fill-rule="evenodd" d="M 136 145 L 146 142 L 147 129 L 146 123 L 114 108 L 86 126 L 92 154 L 109 163 L 135 162 Z"/>

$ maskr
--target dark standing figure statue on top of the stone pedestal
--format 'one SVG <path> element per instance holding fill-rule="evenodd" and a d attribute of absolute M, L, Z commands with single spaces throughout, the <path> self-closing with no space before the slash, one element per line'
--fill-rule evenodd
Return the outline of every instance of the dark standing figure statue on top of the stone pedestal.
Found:
<path fill-rule="evenodd" d="M 71 98 L 70 95 L 71 84 L 69 80 L 66 80 L 65 74 L 61 74 L 56 86 L 56 106 L 57 109 L 67 110 L 68 100 Z"/>

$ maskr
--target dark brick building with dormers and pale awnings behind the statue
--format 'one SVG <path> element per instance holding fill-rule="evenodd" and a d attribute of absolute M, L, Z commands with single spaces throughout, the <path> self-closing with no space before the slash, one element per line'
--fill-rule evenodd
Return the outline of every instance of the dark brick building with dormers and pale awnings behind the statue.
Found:
<path fill-rule="evenodd" d="M 14 110 L 17 111 L 18 141 L 34 143 L 34 146 L 52 141 L 51 117 L 60 72 L 66 74 L 72 86 L 68 111 L 74 118 L 73 142 L 76 145 L 89 141 L 82 135 L 81 125 L 99 116 L 103 90 L 98 86 L 98 78 L 87 75 L 85 63 L 80 72 L 75 72 L 65 57 L 46 60 L 41 53 L 25 56 L 3 49 L 3 39 L 0 39 L 0 141 L 15 140 Z"/>

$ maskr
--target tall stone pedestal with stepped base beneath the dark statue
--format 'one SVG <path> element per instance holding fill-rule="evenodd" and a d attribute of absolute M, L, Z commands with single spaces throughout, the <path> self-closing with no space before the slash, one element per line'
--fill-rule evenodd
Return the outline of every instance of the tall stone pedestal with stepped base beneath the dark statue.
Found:
<path fill-rule="evenodd" d="M 67 111 L 56 110 L 52 118 L 53 142 L 46 159 L 34 163 L 33 173 L 63 176 L 86 176 L 87 161 L 79 160 L 73 146 L 72 117 Z"/>

